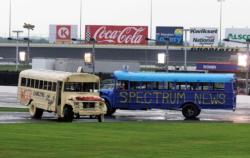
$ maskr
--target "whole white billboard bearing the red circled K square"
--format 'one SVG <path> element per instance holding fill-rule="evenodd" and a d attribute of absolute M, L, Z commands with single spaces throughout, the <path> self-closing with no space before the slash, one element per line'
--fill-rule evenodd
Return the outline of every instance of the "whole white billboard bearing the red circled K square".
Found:
<path fill-rule="evenodd" d="M 77 25 L 50 25 L 50 43 L 71 43 L 72 38 L 77 38 Z"/>

